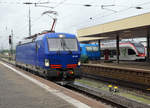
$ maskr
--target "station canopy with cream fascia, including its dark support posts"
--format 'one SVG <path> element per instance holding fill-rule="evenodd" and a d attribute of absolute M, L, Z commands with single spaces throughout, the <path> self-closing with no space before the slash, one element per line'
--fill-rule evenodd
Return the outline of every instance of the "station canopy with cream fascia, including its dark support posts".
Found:
<path fill-rule="evenodd" d="M 150 59 L 150 13 L 145 13 L 105 24 L 85 27 L 77 30 L 80 42 L 116 39 L 117 63 L 119 63 L 119 40 L 146 37 L 147 57 Z"/>

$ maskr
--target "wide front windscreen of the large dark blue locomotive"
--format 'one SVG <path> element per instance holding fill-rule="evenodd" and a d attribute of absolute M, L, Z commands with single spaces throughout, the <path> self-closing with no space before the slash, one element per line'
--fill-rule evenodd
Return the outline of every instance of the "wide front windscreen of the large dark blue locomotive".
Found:
<path fill-rule="evenodd" d="M 77 40 L 73 38 L 48 38 L 49 51 L 78 51 Z"/>

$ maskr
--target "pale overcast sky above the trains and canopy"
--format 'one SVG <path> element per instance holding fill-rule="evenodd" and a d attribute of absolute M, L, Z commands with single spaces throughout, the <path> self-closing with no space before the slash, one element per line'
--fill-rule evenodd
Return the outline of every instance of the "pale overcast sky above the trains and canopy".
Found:
<path fill-rule="evenodd" d="M 29 1 L 49 2 L 40 4 L 47 7 L 30 5 L 32 34 L 50 29 L 52 18 L 41 15 L 48 10 L 58 12 L 56 32 L 69 33 L 76 33 L 80 28 L 150 12 L 150 0 L 0 0 L 0 48 L 9 48 L 8 36 L 11 29 L 14 33 L 14 43 L 28 36 L 29 5 L 23 3 Z M 87 4 L 91 6 L 84 6 Z M 136 9 L 137 6 L 142 9 Z"/>

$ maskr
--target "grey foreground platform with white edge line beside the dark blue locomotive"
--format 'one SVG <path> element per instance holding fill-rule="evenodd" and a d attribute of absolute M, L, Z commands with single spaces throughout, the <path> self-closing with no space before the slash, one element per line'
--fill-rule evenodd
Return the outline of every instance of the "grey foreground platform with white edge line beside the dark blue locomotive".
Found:
<path fill-rule="evenodd" d="M 16 72 L 14 72 L 16 71 Z M 105 108 L 96 100 L 69 91 L 42 79 L 40 82 L 24 75 L 15 67 L 0 61 L 0 108 Z M 22 77 L 24 75 L 24 77 Z M 31 77 L 34 75 L 31 75 Z M 29 80 L 30 78 L 30 80 Z M 40 79 L 40 78 L 39 78 Z M 49 83 L 50 82 L 50 83 Z M 39 85 L 37 84 L 39 83 Z M 56 87 L 57 86 L 57 87 Z M 55 87 L 55 88 L 52 88 Z M 76 95 L 76 96 L 75 96 Z M 79 100 L 73 98 L 78 97 Z M 83 101 L 82 101 L 83 100 Z"/>

